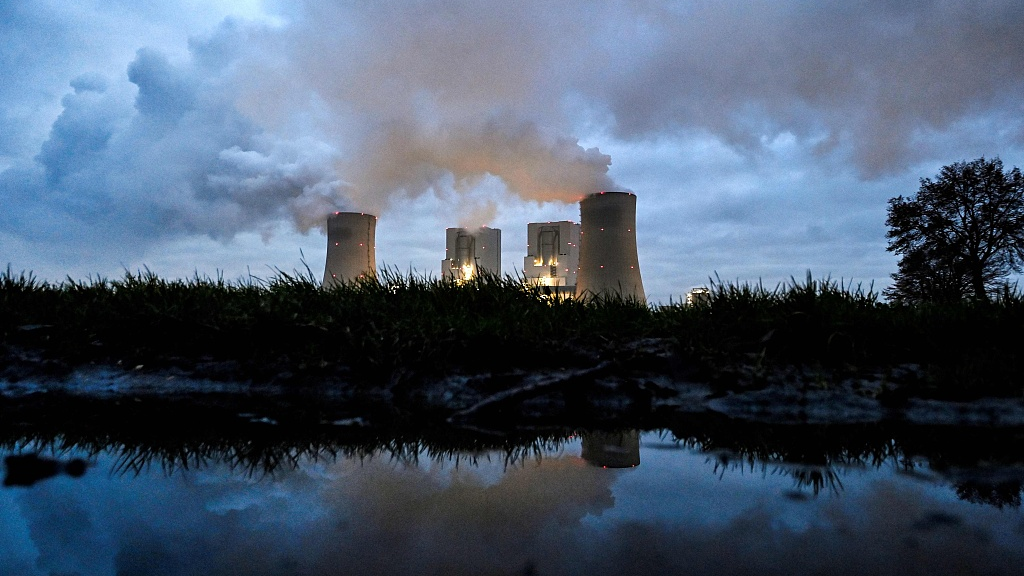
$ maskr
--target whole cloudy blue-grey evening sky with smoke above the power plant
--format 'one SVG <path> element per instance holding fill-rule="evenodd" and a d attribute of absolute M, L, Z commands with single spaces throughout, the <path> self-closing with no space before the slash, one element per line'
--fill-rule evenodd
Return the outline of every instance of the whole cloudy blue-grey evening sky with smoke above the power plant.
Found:
<path fill-rule="evenodd" d="M 0 266 L 304 272 L 326 215 L 439 276 L 444 229 L 637 195 L 648 300 L 808 272 L 881 290 L 890 198 L 1024 166 L 1015 0 L 0 3 Z"/>

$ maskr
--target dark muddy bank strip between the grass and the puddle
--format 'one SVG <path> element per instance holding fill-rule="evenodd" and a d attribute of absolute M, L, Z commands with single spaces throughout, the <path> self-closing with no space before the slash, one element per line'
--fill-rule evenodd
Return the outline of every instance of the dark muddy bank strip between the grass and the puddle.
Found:
<path fill-rule="evenodd" d="M 279 376 L 257 380 L 229 362 L 53 369 L 38 359 L 8 355 L 0 373 L 0 413 L 7 422 L 47 419 L 47 414 L 74 420 L 92 412 L 164 406 L 182 411 L 183 418 L 190 411 L 266 422 L 416 422 L 480 429 L 649 428 L 696 415 L 773 424 L 1024 426 L 1024 395 L 937 399 L 921 394 L 915 366 L 837 375 L 751 364 L 723 367 L 728 378 L 721 373 L 707 378 L 707 370 L 686 365 L 664 342 L 634 348 L 627 359 L 598 357 L 529 371 L 453 369 L 424 377 L 393 370 L 375 384 L 353 381 L 343 369 L 302 379 L 283 367 Z"/>

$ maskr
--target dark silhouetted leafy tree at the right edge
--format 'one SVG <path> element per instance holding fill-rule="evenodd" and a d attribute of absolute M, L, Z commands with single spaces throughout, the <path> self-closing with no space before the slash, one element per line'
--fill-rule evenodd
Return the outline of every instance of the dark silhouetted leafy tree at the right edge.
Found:
<path fill-rule="evenodd" d="M 886 224 L 887 250 L 902 256 L 886 296 L 987 299 L 1024 263 L 1024 177 L 998 158 L 943 166 L 916 197 L 889 201 Z"/>

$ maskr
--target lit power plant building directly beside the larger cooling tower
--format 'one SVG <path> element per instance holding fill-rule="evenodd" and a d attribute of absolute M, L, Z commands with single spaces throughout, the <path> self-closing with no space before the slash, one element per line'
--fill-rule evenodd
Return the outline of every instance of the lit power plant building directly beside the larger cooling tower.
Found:
<path fill-rule="evenodd" d="M 568 220 L 526 224 L 525 282 L 550 286 L 557 293 L 575 291 L 580 268 L 580 224 Z"/>

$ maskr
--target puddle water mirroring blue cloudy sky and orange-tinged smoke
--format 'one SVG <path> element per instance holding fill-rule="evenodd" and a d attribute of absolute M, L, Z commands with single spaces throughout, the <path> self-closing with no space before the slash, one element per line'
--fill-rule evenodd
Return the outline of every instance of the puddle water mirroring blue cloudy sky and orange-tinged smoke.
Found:
<path fill-rule="evenodd" d="M 627 431 L 251 460 L 44 449 L 55 474 L 0 490 L 0 574 L 1018 574 L 1024 561 L 1020 469 L 698 448 Z"/>

